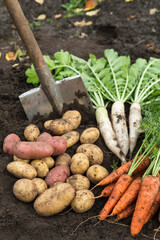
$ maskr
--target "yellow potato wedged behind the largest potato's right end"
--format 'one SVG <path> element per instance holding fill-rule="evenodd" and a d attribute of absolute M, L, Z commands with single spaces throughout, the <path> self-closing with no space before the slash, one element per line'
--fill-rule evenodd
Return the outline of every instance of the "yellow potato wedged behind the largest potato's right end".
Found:
<path fill-rule="evenodd" d="M 70 176 L 66 182 L 71 184 L 76 191 L 90 188 L 89 179 L 81 174 Z"/>

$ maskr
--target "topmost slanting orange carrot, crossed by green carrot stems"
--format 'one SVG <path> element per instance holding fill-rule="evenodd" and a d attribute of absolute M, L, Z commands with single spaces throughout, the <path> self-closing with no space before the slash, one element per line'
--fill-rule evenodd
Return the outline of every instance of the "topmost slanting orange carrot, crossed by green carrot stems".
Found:
<path fill-rule="evenodd" d="M 139 159 L 139 157 L 137 159 Z M 106 178 L 104 178 L 97 185 L 95 185 L 94 188 L 96 186 L 104 186 L 104 185 L 107 185 L 109 183 L 116 182 L 117 179 L 121 175 L 128 173 L 128 171 L 129 171 L 129 169 L 132 165 L 132 162 L 133 162 L 133 160 L 131 160 L 131 161 L 127 162 L 126 164 L 123 164 L 122 166 L 117 168 L 117 170 L 110 173 Z M 143 169 L 146 169 L 149 166 L 149 164 L 150 164 L 149 158 L 145 157 L 144 160 L 142 161 L 142 163 L 140 163 L 140 165 L 137 167 L 137 169 L 133 172 L 133 175 L 142 171 Z"/>

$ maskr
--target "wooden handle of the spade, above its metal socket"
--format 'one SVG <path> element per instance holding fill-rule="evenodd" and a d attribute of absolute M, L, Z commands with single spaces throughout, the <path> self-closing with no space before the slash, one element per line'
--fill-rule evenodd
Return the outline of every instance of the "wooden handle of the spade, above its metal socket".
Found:
<path fill-rule="evenodd" d="M 45 60 L 18 0 L 3 1 L 13 19 L 16 29 L 27 49 L 28 55 L 34 67 L 41 68 L 46 64 Z"/>

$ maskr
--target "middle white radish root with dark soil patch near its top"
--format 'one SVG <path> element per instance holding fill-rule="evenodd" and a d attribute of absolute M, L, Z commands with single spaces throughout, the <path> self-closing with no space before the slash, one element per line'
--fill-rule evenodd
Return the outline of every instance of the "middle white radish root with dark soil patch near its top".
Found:
<path fill-rule="evenodd" d="M 111 118 L 118 144 L 122 152 L 126 156 L 129 149 L 129 136 L 125 117 L 124 104 L 122 102 L 116 101 L 115 103 L 113 103 L 111 109 Z"/>

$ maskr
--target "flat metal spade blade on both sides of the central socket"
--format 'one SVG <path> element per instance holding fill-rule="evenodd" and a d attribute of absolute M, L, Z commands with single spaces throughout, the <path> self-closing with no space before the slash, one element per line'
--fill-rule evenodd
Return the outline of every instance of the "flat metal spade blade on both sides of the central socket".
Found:
<path fill-rule="evenodd" d="M 80 76 L 56 81 L 56 86 L 63 98 L 63 109 L 65 111 L 74 107 L 74 110 L 83 111 L 83 113 L 89 113 L 89 115 L 94 114 L 92 102 Z M 54 113 L 54 109 L 41 86 L 21 94 L 19 99 L 30 121 L 36 115 L 46 118 Z"/>

